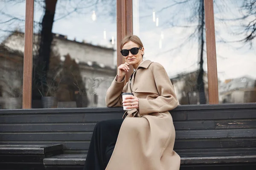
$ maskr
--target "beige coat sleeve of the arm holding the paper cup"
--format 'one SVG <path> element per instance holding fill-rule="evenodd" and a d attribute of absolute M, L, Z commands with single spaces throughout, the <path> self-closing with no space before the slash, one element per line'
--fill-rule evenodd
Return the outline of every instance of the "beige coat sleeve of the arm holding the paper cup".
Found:
<path fill-rule="evenodd" d="M 154 81 L 160 96 L 156 99 L 139 99 L 140 116 L 155 112 L 170 111 L 177 107 L 177 97 L 166 70 L 159 63 L 151 64 Z"/>

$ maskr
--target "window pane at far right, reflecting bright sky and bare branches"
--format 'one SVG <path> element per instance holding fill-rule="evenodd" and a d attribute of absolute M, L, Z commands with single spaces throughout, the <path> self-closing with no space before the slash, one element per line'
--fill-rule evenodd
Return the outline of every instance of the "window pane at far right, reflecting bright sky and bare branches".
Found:
<path fill-rule="evenodd" d="M 220 103 L 256 102 L 256 2 L 215 0 Z"/>

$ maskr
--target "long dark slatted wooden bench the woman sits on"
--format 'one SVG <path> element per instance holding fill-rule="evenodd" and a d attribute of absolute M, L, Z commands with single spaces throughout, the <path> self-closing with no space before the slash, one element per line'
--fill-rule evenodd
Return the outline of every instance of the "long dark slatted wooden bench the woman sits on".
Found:
<path fill-rule="evenodd" d="M 44 159 L 47 170 L 81 170 L 96 122 L 123 114 L 122 108 L 17 112 L 0 114 L 0 128 L 8 133 L 0 144 L 63 144 L 63 155 Z M 178 106 L 170 113 L 180 170 L 255 170 L 256 104 Z"/>

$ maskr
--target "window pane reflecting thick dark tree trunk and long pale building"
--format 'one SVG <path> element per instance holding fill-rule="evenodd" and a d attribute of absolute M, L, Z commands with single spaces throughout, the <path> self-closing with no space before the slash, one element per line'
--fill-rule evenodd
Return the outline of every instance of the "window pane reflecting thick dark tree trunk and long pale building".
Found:
<path fill-rule="evenodd" d="M 105 107 L 116 75 L 116 1 L 35 1 L 32 108 Z"/>

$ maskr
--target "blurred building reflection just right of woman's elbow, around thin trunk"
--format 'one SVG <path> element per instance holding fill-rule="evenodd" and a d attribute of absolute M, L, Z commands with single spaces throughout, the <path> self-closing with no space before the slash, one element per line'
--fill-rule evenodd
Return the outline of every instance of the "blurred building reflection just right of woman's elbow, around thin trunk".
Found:
<path fill-rule="evenodd" d="M 171 78 L 172 84 L 175 85 L 177 98 L 180 105 L 198 105 L 200 104 L 199 92 L 197 90 L 196 80 L 198 78 L 198 71 L 191 73 L 180 74 L 177 77 Z M 207 73 L 204 72 L 204 93 L 206 102 L 208 103 L 208 79 Z"/>

